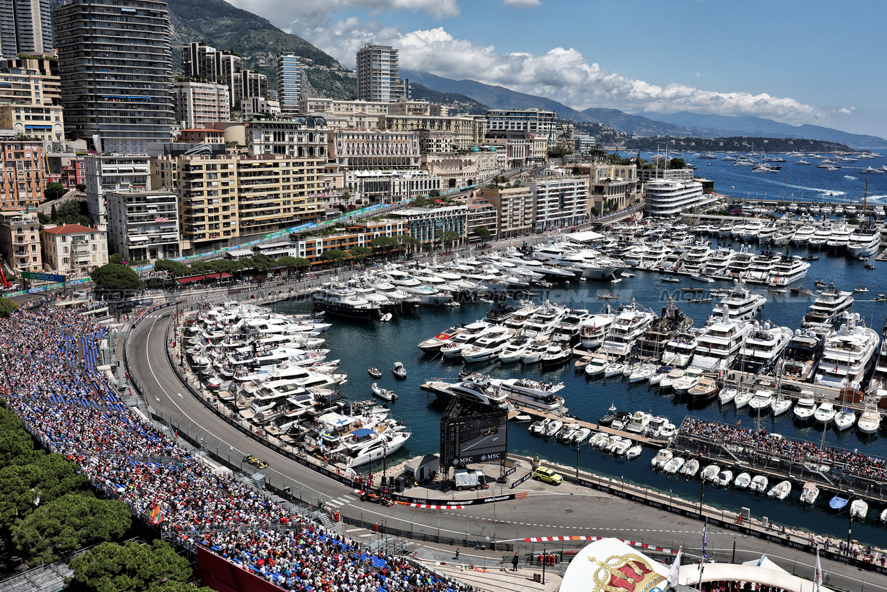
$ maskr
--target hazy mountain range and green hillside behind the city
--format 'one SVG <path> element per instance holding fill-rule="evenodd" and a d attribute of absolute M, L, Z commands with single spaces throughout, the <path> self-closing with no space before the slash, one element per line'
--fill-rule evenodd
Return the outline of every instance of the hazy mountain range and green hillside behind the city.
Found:
<path fill-rule="evenodd" d="M 61 0 L 51 0 L 59 3 Z M 277 73 L 274 58 L 280 51 L 292 51 L 302 58 L 303 90 L 313 97 L 352 99 L 357 95 L 354 72 L 300 36 L 286 33 L 263 17 L 241 10 L 224 0 L 168 0 L 173 28 L 173 67 L 181 64 L 181 45 L 206 41 L 219 49 L 237 52 L 245 67 L 269 76 L 274 87 Z M 428 72 L 405 70 L 413 96 L 443 102 L 459 112 L 483 113 L 492 109 L 537 107 L 557 111 L 562 119 L 594 122 L 638 136 L 679 138 L 721 138 L 765 136 L 810 138 L 838 142 L 855 148 L 887 148 L 887 140 L 852 134 L 818 125 L 789 125 L 752 116 L 726 116 L 680 112 L 674 114 L 628 114 L 618 109 L 590 107 L 583 111 L 553 99 L 512 91 L 502 86 L 474 80 L 451 80 Z"/>

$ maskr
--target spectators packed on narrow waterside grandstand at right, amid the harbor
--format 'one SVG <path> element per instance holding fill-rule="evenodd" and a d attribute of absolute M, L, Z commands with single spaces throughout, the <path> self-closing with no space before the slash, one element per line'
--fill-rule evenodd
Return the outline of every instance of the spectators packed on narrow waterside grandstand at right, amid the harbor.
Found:
<path fill-rule="evenodd" d="M 750 430 L 726 423 L 687 418 L 680 427 L 687 437 L 702 438 L 718 444 L 743 446 L 750 452 L 778 457 L 788 462 L 810 462 L 840 467 L 844 472 L 859 477 L 887 481 L 887 461 L 878 456 L 853 450 L 829 448 L 805 440 L 789 440 L 764 428 Z"/>

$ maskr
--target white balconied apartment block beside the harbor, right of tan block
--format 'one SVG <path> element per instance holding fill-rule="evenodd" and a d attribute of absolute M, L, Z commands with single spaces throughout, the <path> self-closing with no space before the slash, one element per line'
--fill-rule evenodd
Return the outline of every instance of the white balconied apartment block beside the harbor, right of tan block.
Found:
<path fill-rule="evenodd" d="M 588 219 L 588 178 L 554 177 L 526 183 L 533 193 L 533 232 L 577 225 Z"/>

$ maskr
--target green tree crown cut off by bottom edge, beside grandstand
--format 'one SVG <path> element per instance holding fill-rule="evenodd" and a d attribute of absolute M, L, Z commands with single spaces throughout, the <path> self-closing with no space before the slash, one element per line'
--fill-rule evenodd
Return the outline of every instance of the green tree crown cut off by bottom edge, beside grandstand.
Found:
<path fill-rule="evenodd" d="M 123 545 L 103 542 L 89 553 L 71 561 L 74 577 L 71 592 L 204 592 L 185 582 L 191 577 L 191 566 L 166 542 L 154 540 L 150 545 L 130 541 Z"/>

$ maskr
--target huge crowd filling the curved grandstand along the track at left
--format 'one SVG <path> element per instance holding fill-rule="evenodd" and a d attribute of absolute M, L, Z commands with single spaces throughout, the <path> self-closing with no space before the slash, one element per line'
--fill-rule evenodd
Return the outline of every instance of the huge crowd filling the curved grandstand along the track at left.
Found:
<path fill-rule="evenodd" d="M 122 404 L 95 364 L 106 329 L 81 312 L 45 305 L 0 320 L 4 395 L 35 435 L 137 516 L 281 588 L 467 589 L 401 557 L 366 553 L 210 470 Z"/>

